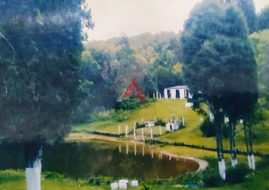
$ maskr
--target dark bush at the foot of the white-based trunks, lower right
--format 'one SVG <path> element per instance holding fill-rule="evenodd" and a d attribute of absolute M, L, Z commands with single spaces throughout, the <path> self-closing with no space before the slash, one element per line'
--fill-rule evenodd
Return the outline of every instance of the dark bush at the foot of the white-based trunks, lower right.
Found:
<path fill-rule="evenodd" d="M 236 168 L 230 167 L 226 170 L 225 181 L 228 184 L 242 183 L 245 181 L 245 177 L 250 171 L 249 166 L 246 164 L 239 164 Z"/>

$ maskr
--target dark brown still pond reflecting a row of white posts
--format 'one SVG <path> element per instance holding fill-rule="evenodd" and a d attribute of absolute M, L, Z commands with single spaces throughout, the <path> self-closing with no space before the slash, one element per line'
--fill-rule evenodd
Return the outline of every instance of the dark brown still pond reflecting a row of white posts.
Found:
<path fill-rule="evenodd" d="M 24 169 L 23 146 L 0 147 L 0 170 Z M 130 179 L 168 179 L 199 168 L 196 161 L 154 152 L 134 143 L 62 143 L 43 148 L 42 171 L 54 171 L 75 179 L 92 175 Z"/>

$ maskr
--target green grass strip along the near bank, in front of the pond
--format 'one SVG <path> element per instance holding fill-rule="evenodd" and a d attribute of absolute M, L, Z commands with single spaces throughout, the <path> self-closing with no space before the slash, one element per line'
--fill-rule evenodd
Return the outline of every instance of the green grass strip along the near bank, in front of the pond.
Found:
<path fill-rule="evenodd" d="M 79 184 L 80 187 L 79 187 Z M 139 184 L 141 184 L 139 182 Z M 245 189 L 258 189 L 268 190 L 269 188 L 269 167 L 259 170 L 257 174 L 250 176 L 246 182 L 238 183 L 235 185 L 227 185 L 221 188 L 205 188 L 212 190 L 245 190 Z M 0 189 L 1 190 L 26 190 L 26 180 L 23 171 L 6 170 L 0 171 Z M 90 186 L 85 181 L 68 180 L 64 182 L 54 182 L 48 179 L 42 179 L 41 181 L 42 190 L 105 190 L 110 189 L 109 185 L 101 186 Z M 130 190 L 138 190 L 141 187 L 132 188 Z M 173 187 L 172 185 L 152 185 L 152 189 L 160 190 L 174 190 L 174 189 L 186 189 Z"/>

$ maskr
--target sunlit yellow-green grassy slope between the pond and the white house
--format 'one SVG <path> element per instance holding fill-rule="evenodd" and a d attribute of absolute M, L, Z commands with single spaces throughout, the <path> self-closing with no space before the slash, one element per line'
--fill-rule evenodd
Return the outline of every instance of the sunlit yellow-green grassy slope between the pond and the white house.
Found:
<path fill-rule="evenodd" d="M 158 99 L 156 103 L 153 103 L 155 108 L 140 108 L 131 113 L 128 113 L 128 120 L 125 122 L 114 122 L 114 121 L 105 121 L 105 122 L 94 122 L 90 124 L 81 124 L 73 126 L 72 130 L 76 132 L 82 130 L 88 131 L 100 131 L 107 133 L 118 133 L 118 126 L 121 126 L 121 133 L 125 132 L 125 126 L 128 124 L 129 131 L 133 129 L 134 122 L 143 121 L 156 121 L 156 118 L 161 118 L 163 121 L 171 121 L 171 117 L 178 117 L 180 120 L 181 116 L 184 116 L 186 128 L 173 131 L 171 133 L 165 134 L 166 128 L 162 127 L 162 136 L 157 137 L 156 139 L 162 141 L 170 142 L 184 142 L 187 144 L 201 145 L 205 147 L 216 147 L 215 137 L 204 138 L 198 126 L 202 122 L 200 115 L 194 112 L 191 108 L 186 108 L 186 100 L 181 99 Z M 256 133 L 256 138 L 253 140 L 254 151 L 263 152 L 269 154 L 269 111 L 265 111 L 266 121 L 258 126 L 255 126 L 254 130 Z M 152 127 L 153 134 L 159 135 L 160 129 L 159 126 Z M 145 139 L 150 138 L 150 128 L 144 128 Z M 138 140 L 142 139 L 141 129 L 136 130 L 136 137 Z M 125 138 L 125 136 L 123 137 Z M 133 138 L 133 135 L 129 135 L 128 139 Z M 225 149 L 229 149 L 229 139 L 223 140 L 223 145 Z M 242 125 L 237 125 L 237 149 L 246 150 L 244 143 L 244 133 L 242 130 Z"/>

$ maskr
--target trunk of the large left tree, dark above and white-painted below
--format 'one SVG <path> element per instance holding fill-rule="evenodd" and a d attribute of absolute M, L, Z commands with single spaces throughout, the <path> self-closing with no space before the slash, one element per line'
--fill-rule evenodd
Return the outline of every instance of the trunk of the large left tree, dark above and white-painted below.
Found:
<path fill-rule="evenodd" d="M 27 190 L 41 190 L 41 143 L 24 143 L 24 159 L 26 163 Z"/>

